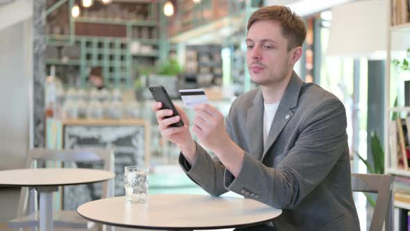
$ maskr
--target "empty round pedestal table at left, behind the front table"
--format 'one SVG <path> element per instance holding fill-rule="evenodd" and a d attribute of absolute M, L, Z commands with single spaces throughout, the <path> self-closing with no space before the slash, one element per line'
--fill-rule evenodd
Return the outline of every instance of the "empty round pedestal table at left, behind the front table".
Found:
<path fill-rule="evenodd" d="M 53 230 L 53 192 L 58 186 L 103 182 L 115 177 L 89 168 L 24 168 L 0 170 L 0 186 L 35 187 L 40 194 L 40 231 Z"/>

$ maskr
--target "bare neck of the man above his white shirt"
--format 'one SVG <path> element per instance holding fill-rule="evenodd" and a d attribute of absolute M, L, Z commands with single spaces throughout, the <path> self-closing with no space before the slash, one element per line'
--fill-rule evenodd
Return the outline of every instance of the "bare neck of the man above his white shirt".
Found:
<path fill-rule="evenodd" d="M 290 77 L 292 77 L 293 70 L 290 70 L 286 74 L 285 79 L 272 83 L 270 86 L 261 86 L 263 100 L 265 104 L 274 104 L 280 102 L 284 96 L 285 90 L 288 87 Z"/>

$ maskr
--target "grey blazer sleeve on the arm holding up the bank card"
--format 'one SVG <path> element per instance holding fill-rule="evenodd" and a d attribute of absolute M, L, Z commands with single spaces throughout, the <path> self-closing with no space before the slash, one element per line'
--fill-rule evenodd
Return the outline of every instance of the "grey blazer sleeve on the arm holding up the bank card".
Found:
<path fill-rule="evenodd" d="M 238 177 L 225 172 L 229 191 L 277 208 L 298 205 L 329 174 L 347 148 L 346 114 L 336 97 L 322 99 L 301 120 L 295 146 L 277 168 L 268 168 L 245 152 Z M 245 194 L 246 196 L 246 194 Z"/>

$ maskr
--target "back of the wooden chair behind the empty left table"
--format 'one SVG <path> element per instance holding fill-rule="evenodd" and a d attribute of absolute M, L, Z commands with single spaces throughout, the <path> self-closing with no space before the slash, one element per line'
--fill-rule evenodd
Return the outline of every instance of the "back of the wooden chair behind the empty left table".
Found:
<path fill-rule="evenodd" d="M 81 150 L 49 150 L 45 148 L 33 148 L 28 150 L 26 157 L 26 168 L 36 168 L 37 161 L 65 161 L 65 162 L 99 162 L 102 161 L 104 170 L 114 173 L 114 152 L 113 150 L 93 148 Z M 114 193 L 114 179 L 101 182 L 101 198 L 109 198 Z M 30 196 L 29 196 L 30 193 Z M 17 207 L 17 217 L 25 216 L 34 212 L 37 208 L 37 198 L 34 190 L 23 187 L 20 192 L 19 205 Z M 29 199 L 30 198 L 30 199 Z"/>

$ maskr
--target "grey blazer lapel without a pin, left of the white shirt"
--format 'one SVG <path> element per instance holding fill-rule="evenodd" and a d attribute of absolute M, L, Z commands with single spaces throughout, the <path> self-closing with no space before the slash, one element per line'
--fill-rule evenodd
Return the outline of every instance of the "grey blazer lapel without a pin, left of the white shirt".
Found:
<path fill-rule="evenodd" d="M 249 131 L 249 153 L 261 160 L 263 154 L 263 96 L 259 89 L 254 102 L 247 110 L 247 130 Z"/>

